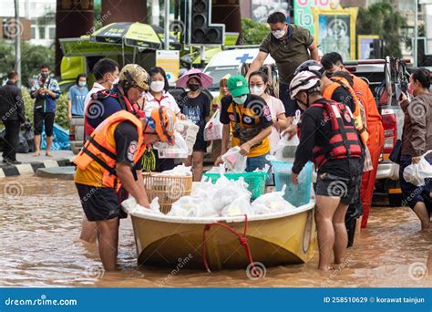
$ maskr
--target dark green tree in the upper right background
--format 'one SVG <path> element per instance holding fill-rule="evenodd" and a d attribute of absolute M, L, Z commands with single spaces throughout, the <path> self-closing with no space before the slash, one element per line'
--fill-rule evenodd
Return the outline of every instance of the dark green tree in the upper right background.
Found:
<path fill-rule="evenodd" d="M 384 41 L 384 55 L 402 57 L 400 29 L 406 27 L 406 18 L 395 12 L 387 1 L 360 7 L 357 17 L 358 35 L 379 35 Z"/>

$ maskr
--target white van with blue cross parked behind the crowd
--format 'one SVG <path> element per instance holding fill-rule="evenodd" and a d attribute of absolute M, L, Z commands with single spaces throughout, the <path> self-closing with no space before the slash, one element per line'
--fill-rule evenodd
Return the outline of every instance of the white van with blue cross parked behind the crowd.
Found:
<path fill-rule="evenodd" d="M 204 68 L 204 72 L 213 78 L 213 85 L 208 89 L 211 95 L 219 94 L 219 81 L 226 74 L 231 76 L 238 75 L 242 64 L 251 64 L 253 59 L 260 52 L 259 48 L 236 48 L 232 50 L 221 51 L 211 58 L 209 64 Z M 275 64 L 273 57 L 270 55 L 265 59 L 264 65 Z"/>

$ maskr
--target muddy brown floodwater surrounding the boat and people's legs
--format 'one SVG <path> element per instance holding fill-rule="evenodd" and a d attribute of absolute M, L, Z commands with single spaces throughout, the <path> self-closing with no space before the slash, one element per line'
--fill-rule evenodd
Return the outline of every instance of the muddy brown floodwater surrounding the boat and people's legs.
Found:
<path fill-rule="evenodd" d="M 94 245 L 81 243 L 82 209 L 73 182 L 36 177 L 0 180 L 0 286 L 400 286 L 429 287 L 425 277 L 431 233 L 407 208 L 374 208 L 367 230 L 331 273 L 306 265 L 267 268 L 250 280 L 242 269 L 204 270 L 139 267 L 130 219 L 120 225 L 117 273 L 104 273 Z M 253 253 L 253 251 L 252 251 Z"/>

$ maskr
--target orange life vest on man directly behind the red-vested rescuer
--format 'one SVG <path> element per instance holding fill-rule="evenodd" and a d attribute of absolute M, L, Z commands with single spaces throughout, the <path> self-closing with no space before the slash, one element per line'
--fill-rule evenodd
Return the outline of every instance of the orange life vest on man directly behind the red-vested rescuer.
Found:
<path fill-rule="evenodd" d="M 366 144 L 369 139 L 369 134 L 366 130 L 366 116 L 365 116 L 365 108 L 363 107 L 361 101 L 357 98 L 355 91 L 351 88 L 349 82 L 342 77 L 332 77 L 330 78 L 333 83 L 324 89 L 323 97 L 324 99 L 332 99 L 334 90 L 339 87 L 345 88 L 351 95 L 355 102 L 355 111 L 353 112 L 355 129 L 360 134 L 360 138 L 363 143 Z"/>

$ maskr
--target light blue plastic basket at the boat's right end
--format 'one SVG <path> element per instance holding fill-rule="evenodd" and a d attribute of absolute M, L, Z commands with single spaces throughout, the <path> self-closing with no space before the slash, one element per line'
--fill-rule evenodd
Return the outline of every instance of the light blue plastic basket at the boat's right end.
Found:
<path fill-rule="evenodd" d="M 299 184 L 294 185 L 291 182 L 293 163 L 285 161 L 272 161 L 274 183 L 276 191 L 281 191 L 283 185 L 286 184 L 285 200 L 292 203 L 296 207 L 311 201 L 311 188 L 312 188 L 312 162 L 308 161 L 302 172 L 299 174 Z"/>

